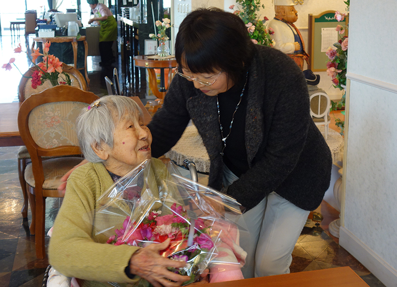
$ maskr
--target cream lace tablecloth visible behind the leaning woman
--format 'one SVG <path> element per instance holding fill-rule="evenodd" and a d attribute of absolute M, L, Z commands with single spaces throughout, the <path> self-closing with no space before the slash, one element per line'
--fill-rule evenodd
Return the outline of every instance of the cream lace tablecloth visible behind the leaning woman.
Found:
<path fill-rule="evenodd" d="M 324 125 L 318 126 L 324 135 Z M 343 137 L 333 129 L 328 130 L 327 144 L 332 154 L 332 163 L 336 164 L 343 159 Z M 209 157 L 196 126 L 188 126 L 177 144 L 165 154 L 165 156 L 177 165 L 183 166 L 184 160 L 190 160 L 196 164 L 198 172 L 209 172 Z"/>

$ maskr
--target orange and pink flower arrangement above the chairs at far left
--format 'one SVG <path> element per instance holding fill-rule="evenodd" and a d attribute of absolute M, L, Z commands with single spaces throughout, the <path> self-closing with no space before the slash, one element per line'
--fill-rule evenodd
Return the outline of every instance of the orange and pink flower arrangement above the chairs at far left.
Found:
<path fill-rule="evenodd" d="M 25 52 L 33 65 L 37 68 L 37 70 L 33 72 L 32 76 L 28 77 L 32 79 L 33 89 L 36 89 L 37 86 L 41 86 L 46 80 L 49 80 L 52 86 L 57 86 L 60 84 L 66 84 L 69 86 L 71 85 L 69 75 L 62 71 L 62 62 L 58 59 L 58 57 L 48 54 L 50 46 L 51 42 L 47 41 L 46 43 L 43 43 L 43 54 L 41 54 L 39 52 L 39 48 L 37 48 L 30 56 L 26 51 L 22 51 L 20 43 L 18 47 L 14 49 L 15 53 Z M 43 56 L 43 61 L 36 64 L 36 59 L 39 56 Z M 10 58 L 8 63 L 2 65 L 2 68 L 10 70 L 12 68 L 11 64 L 13 64 L 18 69 L 14 61 L 15 58 Z M 25 77 L 19 69 L 18 71 L 23 77 Z"/>

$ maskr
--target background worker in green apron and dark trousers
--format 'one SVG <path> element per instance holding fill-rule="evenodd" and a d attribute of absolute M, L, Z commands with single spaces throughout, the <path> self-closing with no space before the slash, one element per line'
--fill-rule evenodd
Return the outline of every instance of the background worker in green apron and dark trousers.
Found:
<path fill-rule="evenodd" d="M 101 55 L 101 62 L 103 67 L 110 67 L 115 61 L 113 56 L 112 46 L 113 41 L 117 40 L 117 22 L 113 17 L 112 12 L 105 4 L 98 3 L 98 0 L 87 0 L 94 17 L 89 19 L 88 24 L 98 21 L 101 24 L 99 30 L 99 54 Z"/>

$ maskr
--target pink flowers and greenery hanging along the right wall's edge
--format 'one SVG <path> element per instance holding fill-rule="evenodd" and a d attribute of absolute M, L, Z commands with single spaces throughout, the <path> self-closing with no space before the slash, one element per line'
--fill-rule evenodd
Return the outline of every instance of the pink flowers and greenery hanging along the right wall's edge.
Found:
<path fill-rule="evenodd" d="M 345 1 L 347 4 L 346 10 L 349 9 L 349 0 Z M 344 20 L 345 13 L 335 12 L 335 19 L 340 22 Z M 346 103 L 346 72 L 347 72 L 347 48 L 349 38 L 342 36 L 347 27 L 342 25 L 336 26 L 336 31 L 339 33 L 340 40 L 333 44 L 333 47 L 328 48 L 326 54 L 329 58 L 327 62 L 327 73 L 332 78 L 332 84 L 335 88 L 343 91 L 342 98 L 338 102 L 331 101 L 331 111 L 342 109 Z M 341 112 L 345 115 L 345 111 Z M 344 134 L 344 120 L 335 118 L 335 125 L 340 129 L 340 134 Z"/>

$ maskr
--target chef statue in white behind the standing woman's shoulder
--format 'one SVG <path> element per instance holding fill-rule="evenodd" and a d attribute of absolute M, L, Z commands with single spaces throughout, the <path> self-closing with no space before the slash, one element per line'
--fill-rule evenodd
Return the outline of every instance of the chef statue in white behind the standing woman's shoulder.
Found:
<path fill-rule="evenodd" d="M 275 17 L 268 27 L 274 30 L 270 37 L 274 40 L 274 48 L 293 58 L 303 70 L 303 60 L 308 61 L 309 55 L 305 52 L 305 43 L 298 28 L 293 24 L 298 20 L 295 9 L 300 0 L 274 0 Z"/>

